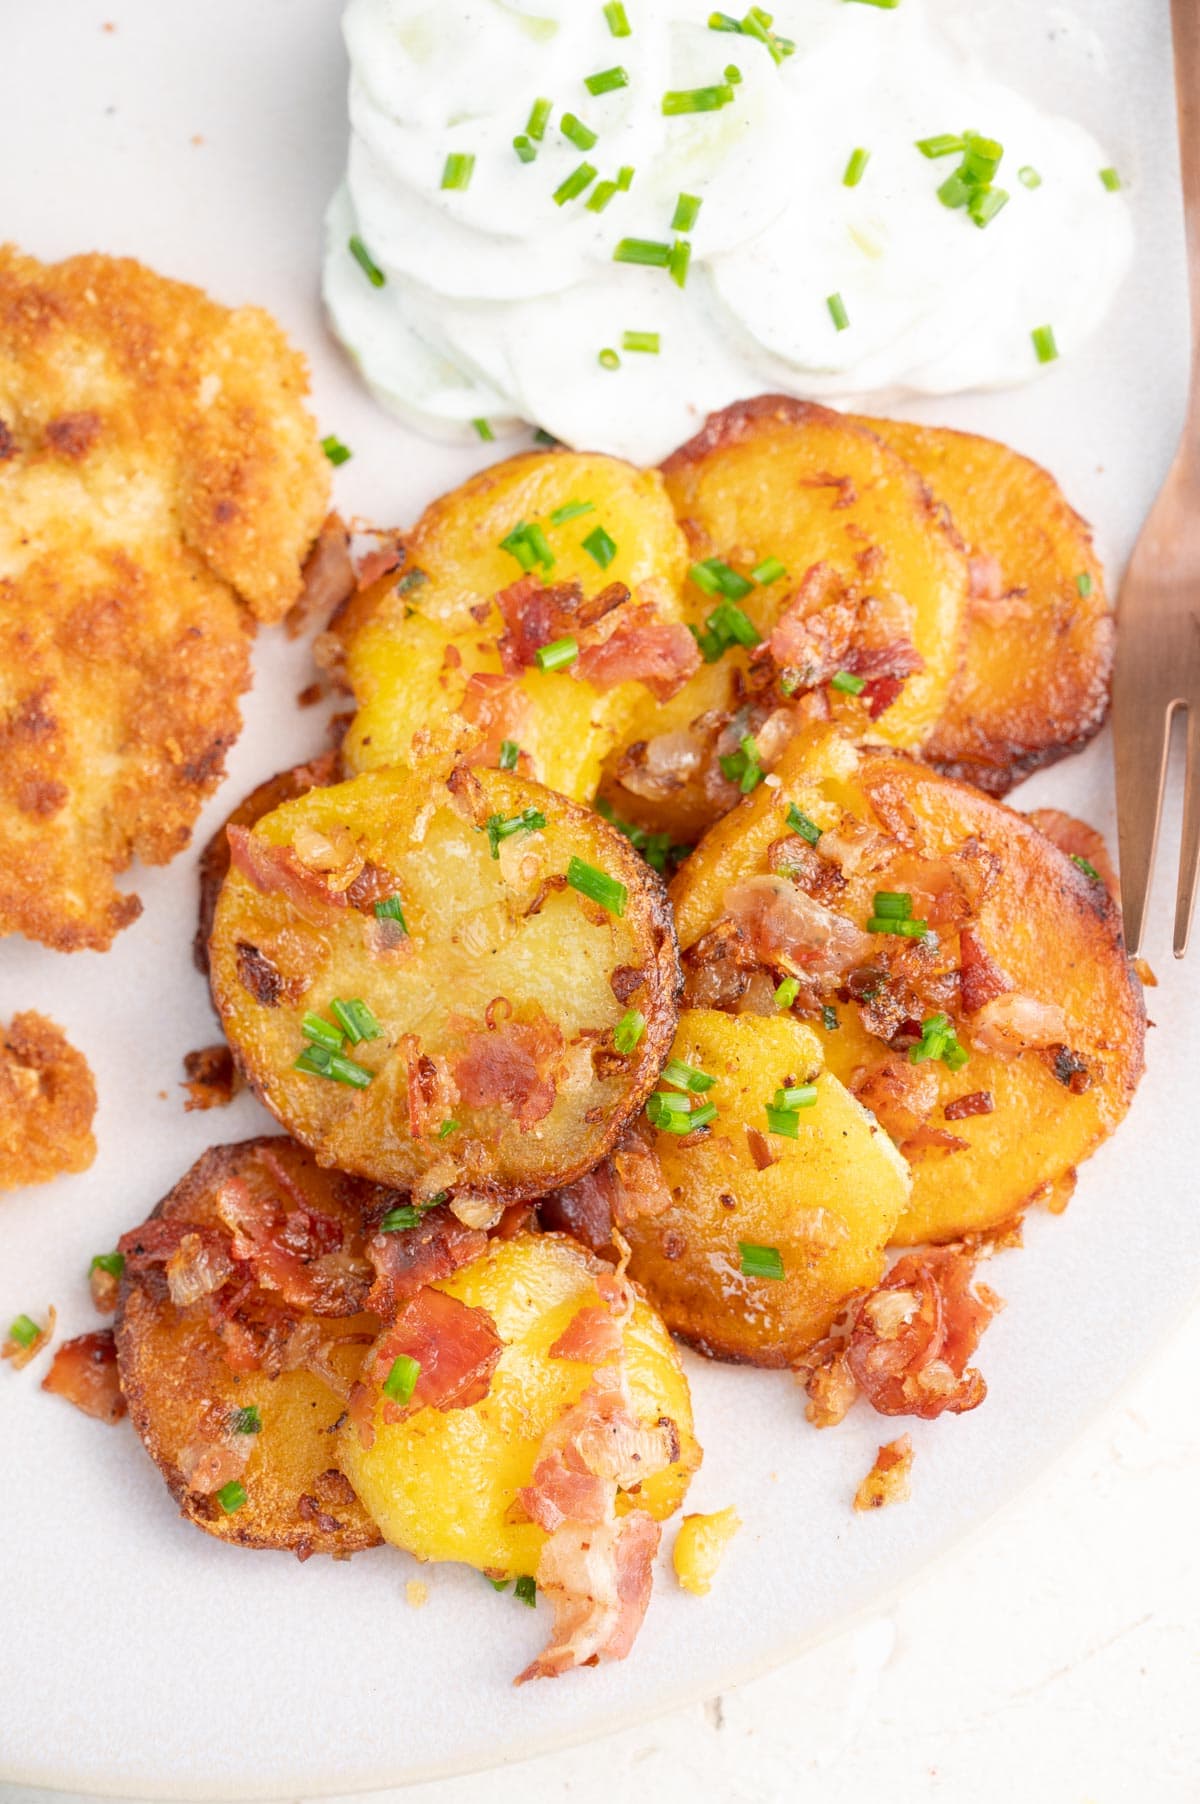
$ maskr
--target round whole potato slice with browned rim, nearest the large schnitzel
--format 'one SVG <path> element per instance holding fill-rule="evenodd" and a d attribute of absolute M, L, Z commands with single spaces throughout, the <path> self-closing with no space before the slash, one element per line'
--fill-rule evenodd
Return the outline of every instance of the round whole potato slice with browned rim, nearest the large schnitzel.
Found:
<path fill-rule="evenodd" d="M 211 983 L 247 1079 L 321 1164 L 511 1201 L 586 1171 L 641 1108 L 678 958 L 660 880 L 599 815 L 502 770 L 424 767 L 258 823 L 217 904 Z M 305 1017 L 332 1032 L 336 999 L 377 1023 L 341 1082 L 305 1054 Z M 626 1008 L 646 1017 L 628 1054 Z"/>

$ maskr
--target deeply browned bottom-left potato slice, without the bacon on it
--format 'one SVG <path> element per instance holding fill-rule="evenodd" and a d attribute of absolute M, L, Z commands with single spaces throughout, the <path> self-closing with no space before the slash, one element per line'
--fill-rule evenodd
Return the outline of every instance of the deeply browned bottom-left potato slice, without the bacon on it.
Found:
<path fill-rule="evenodd" d="M 267 1339 L 263 1364 L 242 1371 L 226 1357 L 211 1297 L 177 1306 L 166 1266 L 180 1230 L 206 1236 L 209 1247 L 224 1247 L 227 1254 L 229 1230 L 218 1203 L 231 1183 L 285 1210 L 296 1210 L 303 1200 L 316 1216 L 341 1229 L 336 1257 L 350 1281 L 341 1292 L 334 1288 L 321 1310 L 354 1312 L 318 1315 L 285 1306 L 276 1290 L 254 1284 L 249 1297 L 240 1293 L 236 1306 L 229 1302 L 227 1315 L 238 1328 L 249 1322 L 251 1333 L 258 1330 L 269 1337 L 274 1330 L 274 1348 Z M 292 1140 L 244 1140 L 209 1147 L 143 1229 L 123 1239 L 126 1268 L 115 1340 L 130 1416 L 180 1514 L 218 1541 L 301 1555 L 355 1553 L 379 1541 L 375 1524 L 337 1468 L 337 1440 L 330 1432 L 365 1349 L 379 1331 L 379 1319 L 361 1312 L 370 1275 L 363 1223 L 377 1203 L 374 1185 L 321 1171 Z M 244 1274 L 245 1266 L 238 1270 Z M 238 1275 L 227 1292 L 240 1286 Z M 222 1302 L 227 1292 L 218 1293 Z M 336 1373 L 337 1389 L 309 1367 L 272 1369 L 285 1357 L 280 1348 L 289 1328 L 301 1333 L 319 1328 L 319 1337 L 312 1333 L 312 1339 L 323 1344 L 321 1357 Z M 240 1414 L 245 1411 L 258 1413 L 260 1432 L 238 1432 L 238 1422 L 247 1422 Z M 218 1481 L 235 1479 L 245 1490 L 245 1503 L 226 1512 L 217 1496 Z"/>

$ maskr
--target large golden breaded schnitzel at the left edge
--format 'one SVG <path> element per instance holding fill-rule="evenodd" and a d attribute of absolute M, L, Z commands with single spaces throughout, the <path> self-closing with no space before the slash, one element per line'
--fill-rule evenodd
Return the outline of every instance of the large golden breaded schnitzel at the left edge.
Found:
<path fill-rule="evenodd" d="M 188 844 L 328 498 L 260 308 L 0 247 L 0 933 L 103 949 Z"/>

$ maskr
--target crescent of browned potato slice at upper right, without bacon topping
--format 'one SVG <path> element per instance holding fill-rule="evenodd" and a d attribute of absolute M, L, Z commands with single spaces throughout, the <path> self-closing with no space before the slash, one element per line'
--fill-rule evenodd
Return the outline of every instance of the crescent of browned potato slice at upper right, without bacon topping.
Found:
<path fill-rule="evenodd" d="M 992 438 L 861 424 L 926 478 L 971 559 L 965 658 L 922 756 L 1003 796 L 1108 713 L 1113 617 L 1092 530 L 1048 471 Z"/>

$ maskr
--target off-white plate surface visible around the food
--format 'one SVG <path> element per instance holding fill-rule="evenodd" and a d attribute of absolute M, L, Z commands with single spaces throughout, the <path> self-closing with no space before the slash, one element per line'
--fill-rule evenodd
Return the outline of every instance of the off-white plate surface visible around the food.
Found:
<path fill-rule="evenodd" d="M 312 359 L 321 428 L 354 447 L 337 474 L 341 505 L 411 521 L 487 456 L 429 446 L 377 413 L 323 330 L 319 218 L 345 135 L 334 0 L 106 5 L 115 31 L 85 0 L 0 7 L 4 231 L 45 258 L 130 253 L 220 299 L 271 307 Z M 1045 0 L 973 0 L 969 31 L 1012 79 L 1099 128 L 1131 184 L 1135 274 L 1104 337 L 1075 363 L 1032 390 L 965 397 L 937 415 L 1047 462 L 1097 521 L 1115 570 L 1182 410 L 1178 182 L 1166 5 L 1090 0 L 1086 13 L 1085 29 Z M 962 123 L 987 126 L 931 128 Z M 321 743 L 321 722 L 292 700 L 305 649 L 263 635 L 256 671 L 245 734 L 198 841 L 251 783 Z M 1052 799 L 1112 828 L 1106 743 L 1020 799 Z M 58 1017 L 101 1093 L 92 1171 L 0 1200 L 0 1321 L 52 1301 L 65 1333 L 92 1326 L 88 1256 L 139 1221 L 206 1144 L 263 1126 L 245 1099 L 220 1115 L 182 1113 L 180 1057 L 215 1037 L 189 965 L 193 864 L 132 873 L 146 913 L 105 956 L 0 947 L 0 1017 L 22 1007 Z M 1034 1216 L 1027 1250 L 998 1261 L 991 1275 L 1009 1310 L 983 1344 L 991 1394 L 962 1420 L 911 1425 L 908 1508 L 848 1508 L 884 1422 L 855 1411 L 816 1434 L 787 1376 L 693 1358 L 706 1463 L 691 1508 L 736 1503 L 745 1521 L 716 1591 L 698 1604 L 668 1573 L 624 1665 L 514 1692 L 511 1674 L 545 1633 L 541 1613 L 457 1568 L 422 1573 L 429 1604 L 417 1613 L 404 1602 L 417 1568 L 388 1550 L 296 1566 L 222 1548 L 177 1521 L 128 1425 L 103 1429 L 42 1396 L 45 1360 L 5 1371 L 0 1779 L 280 1797 L 518 1759 L 783 1660 L 982 1521 L 1112 1396 L 1200 1275 L 1200 1010 L 1195 960 L 1180 971 L 1166 951 L 1166 888 L 1151 942 L 1158 1026 L 1131 1118 L 1085 1167 L 1066 1218 Z"/>

